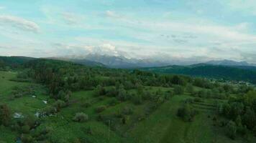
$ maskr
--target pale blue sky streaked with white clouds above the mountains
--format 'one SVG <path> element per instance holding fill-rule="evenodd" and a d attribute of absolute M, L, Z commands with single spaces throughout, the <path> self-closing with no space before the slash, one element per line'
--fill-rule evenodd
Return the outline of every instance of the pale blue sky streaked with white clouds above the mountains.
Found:
<path fill-rule="evenodd" d="M 1 56 L 256 63 L 255 0 L 1 0 Z"/>

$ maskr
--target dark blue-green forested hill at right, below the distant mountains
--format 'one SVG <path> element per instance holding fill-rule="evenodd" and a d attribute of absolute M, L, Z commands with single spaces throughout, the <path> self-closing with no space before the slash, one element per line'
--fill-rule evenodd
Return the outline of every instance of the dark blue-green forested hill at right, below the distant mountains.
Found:
<path fill-rule="evenodd" d="M 256 71 L 253 66 L 219 66 L 195 64 L 191 66 L 163 66 L 142 69 L 168 74 L 185 74 L 196 77 L 209 77 L 256 83 Z"/>

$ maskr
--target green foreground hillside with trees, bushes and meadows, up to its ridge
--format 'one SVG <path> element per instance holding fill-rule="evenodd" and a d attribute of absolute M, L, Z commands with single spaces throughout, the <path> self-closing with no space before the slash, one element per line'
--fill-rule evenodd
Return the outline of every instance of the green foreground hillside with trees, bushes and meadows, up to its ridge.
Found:
<path fill-rule="evenodd" d="M 255 87 L 35 59 L 0 71 L 0 142 L 255 142 Z"/>

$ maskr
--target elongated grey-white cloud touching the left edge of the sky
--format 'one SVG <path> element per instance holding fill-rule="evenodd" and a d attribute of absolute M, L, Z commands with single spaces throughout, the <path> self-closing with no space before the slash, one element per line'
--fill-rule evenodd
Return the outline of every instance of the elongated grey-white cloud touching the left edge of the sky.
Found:
<path fill-rule="evenodd" d="M 0 15 L 0 24 L 4 26 L 12 26 L 24 31 L 32 31 L 35 33 L 40 31 L 40 26 L 38 26 L 35 22 L 22 19 L 17 16 Z"/>

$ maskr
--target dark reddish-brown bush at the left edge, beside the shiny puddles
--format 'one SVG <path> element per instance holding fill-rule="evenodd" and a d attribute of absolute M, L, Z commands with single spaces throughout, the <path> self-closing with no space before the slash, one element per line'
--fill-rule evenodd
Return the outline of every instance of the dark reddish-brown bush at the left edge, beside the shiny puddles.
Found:
<path fill-rule="evenodd" d="M 11 112 L 9 107 L 6 104 L 0 105 L 0 125 L 4 124 L 5 126 L 9 125 L 11 120 Z"/>

